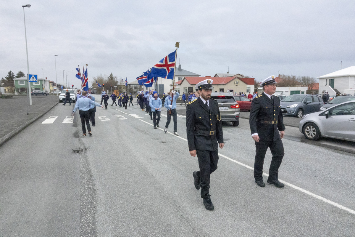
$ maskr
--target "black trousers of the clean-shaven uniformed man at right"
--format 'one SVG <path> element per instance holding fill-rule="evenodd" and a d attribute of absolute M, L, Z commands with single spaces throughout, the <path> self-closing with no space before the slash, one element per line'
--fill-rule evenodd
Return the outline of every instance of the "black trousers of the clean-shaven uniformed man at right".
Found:
<path fill-rule="evenodd" d="M 278 180 L 279 167 L 282 162 L 282 158 L 285 155 L 284 145 L 281 139 L 276 141 L 261 141 L 255 142 L 256 154 L 254 161 L 254 178 L 256 181 L 263 180 L 263 166 L 266 151 L 270 147 L 272 154 L 272 160 L 269 168 L 268 180 Z"/>

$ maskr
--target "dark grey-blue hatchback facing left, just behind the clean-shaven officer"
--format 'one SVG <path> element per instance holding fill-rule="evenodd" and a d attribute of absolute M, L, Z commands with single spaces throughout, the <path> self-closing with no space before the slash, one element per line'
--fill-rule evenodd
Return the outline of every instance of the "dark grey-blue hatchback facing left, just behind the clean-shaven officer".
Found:
<path fill-rule="evenodd" d="M 319 111 L 324 105 L 322 99 L 315 95 L 290 95 L 280 102 L 283 115 L 302 118 L 304 114 Z"/>

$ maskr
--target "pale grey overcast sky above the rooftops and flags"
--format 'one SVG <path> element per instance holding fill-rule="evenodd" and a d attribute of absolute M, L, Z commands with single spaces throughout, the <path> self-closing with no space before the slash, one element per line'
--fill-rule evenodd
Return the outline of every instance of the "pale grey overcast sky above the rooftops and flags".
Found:
<path fill-rule="evenodd" d="M 322 76 L 355 65 L 355 1 L 0 0 L 0 78 L 29 72 L 58 83 L 88 64 L 133 81 L 180 42 L 177 65 L 201 76 Z M 90 85 L 91 86 L 91 85 Z"/>

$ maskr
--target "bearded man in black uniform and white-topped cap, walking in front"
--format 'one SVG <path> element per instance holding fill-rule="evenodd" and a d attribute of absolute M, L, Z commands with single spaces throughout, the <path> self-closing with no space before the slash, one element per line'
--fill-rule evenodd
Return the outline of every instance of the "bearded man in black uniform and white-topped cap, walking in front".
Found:
<path fill-rule="evenodd" d="M 212 83 L 210 79 L 199 82 L 196 89 L 200 97 L 187 104 L 186 107 L 186 133 L 189 143 L 190 155 L 197 155 L 200 171 L 192 173 L 195 188 L 201 187 L 201 198 L 207 210 L 214 206 L 209 195 L 210 176 L 217 169 L 218 144 L 223 148 L 222 120 L 218 102 L 211 99 Z"/>

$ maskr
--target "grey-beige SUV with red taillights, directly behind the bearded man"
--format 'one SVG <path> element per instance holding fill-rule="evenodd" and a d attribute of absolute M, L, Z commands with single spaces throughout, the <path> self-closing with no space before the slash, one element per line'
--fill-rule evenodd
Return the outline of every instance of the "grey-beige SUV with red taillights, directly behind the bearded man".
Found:
<path fill-rule="evenodd" d="M 230 93 L 213 92 L 211 98 L 217 100 L 222 121 L 230 121 L 233 126 L 239 125 L 239 104 Z"/>

